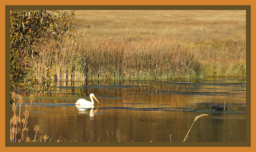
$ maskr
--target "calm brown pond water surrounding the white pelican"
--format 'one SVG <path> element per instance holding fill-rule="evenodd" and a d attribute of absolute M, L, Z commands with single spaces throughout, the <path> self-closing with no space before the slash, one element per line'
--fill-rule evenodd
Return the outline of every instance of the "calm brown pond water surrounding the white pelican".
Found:
<path fill-rule="evenodd" d="M 90 93 L 101 104 L 75 106 Z M 245 109 L 245 78 L 59 82 L 50 93 L 35 94 L 28 136 L 34 139 L 39 125 L 38 137 L 52 141 L 170 142 L 171 135 L 183 142 L 195 117 L 207 114 L 195 121 L 187 142 L 246 141 Z"/>

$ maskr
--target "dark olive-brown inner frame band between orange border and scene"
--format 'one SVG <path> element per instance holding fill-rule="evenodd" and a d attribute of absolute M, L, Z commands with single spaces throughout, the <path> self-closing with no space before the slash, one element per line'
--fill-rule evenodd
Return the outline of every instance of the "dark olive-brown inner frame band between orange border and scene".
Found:
<path fill-rule="evenodd" d="M 246 142 L 195 142 L 195 143 L 10 143 L 9 119 L 10 108 L 10 36 L 8 32 L 10 9 L 102 9 L 102 10 L 149 10 L 149 9 L 173 9 L 173 10 L 246 10 Z M 3 60 L 2 60 L 3 61 Z M 7 129 L 6 129 L 7 128 Z M 5 146 L 6 147 L 251 147 L 251 5 L 5 5 Z"/>

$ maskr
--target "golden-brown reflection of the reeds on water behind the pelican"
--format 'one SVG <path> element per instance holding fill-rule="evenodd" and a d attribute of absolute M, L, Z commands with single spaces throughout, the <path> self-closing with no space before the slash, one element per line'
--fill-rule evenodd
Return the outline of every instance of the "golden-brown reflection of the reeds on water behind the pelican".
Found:
<path fill-rule="evenodd" d="M 214 83 L 212 83 L 214 81 Z M 50 93 L 38 94 L 38 96 L 45 97 L 82 97 L 89 99 L 90 93 L 94 93 L 101 99 L 105 97 L 111 98 L 120 97 L 121 99 L 136 99 L 136 102 L 154 102 L 163 101 L 175 102 L 182 96 L 207 96 L 211 99 L 213 96 L 218 96 L 223 99 L 230 98 L 245 98 L 246 90 L 244 80 L 237 80 L 237 82 L 229 83 L 225 80 L 189 80 L 189 81 L 86 81 L 86 82 L 59 82 L 57 88 L 50 91 Z M 168 99 L 162 95 L 169 96 Z M 172 95 L 176 95 L 172 97 Z M 181 96 L 177 96 L 181 95 Z M 145 97 L 147 96 L 147 97 Z M 215 99 L 216 97 L 214 97 Z M 138 99 L 138 100 L 137 100 Z M 68 98 L 66 100 L 69 100 Z M 70 99 L 70 100 L 77 100 Z M 65 99 L 58 100 L 58 102 L 65 102 Z"/>

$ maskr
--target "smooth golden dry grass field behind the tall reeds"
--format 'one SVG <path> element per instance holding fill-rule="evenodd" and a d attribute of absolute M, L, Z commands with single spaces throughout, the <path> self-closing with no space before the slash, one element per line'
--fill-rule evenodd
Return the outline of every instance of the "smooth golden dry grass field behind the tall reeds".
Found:
<path fill-rule="evenodd" d="M 86 40 L 211 42 L 245 35 L 245 11 L 239 10 L 87 10 L 76 14 L 75 25 Z"/>

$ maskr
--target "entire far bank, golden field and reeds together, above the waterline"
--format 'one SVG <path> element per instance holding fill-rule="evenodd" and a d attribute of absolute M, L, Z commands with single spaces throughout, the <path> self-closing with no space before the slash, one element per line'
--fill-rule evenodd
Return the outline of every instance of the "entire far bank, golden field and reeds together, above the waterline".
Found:
<path fill-rule="evenodd" d="M 246 76 L 245 11 L 76 13 L 84 38 L 49 44 L 31 63 L 38 75 L 51 67 L 56 80 Z"/>

